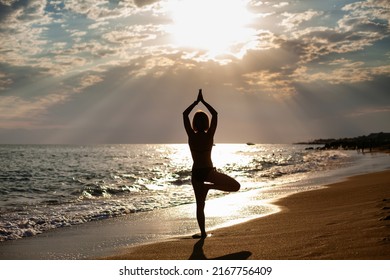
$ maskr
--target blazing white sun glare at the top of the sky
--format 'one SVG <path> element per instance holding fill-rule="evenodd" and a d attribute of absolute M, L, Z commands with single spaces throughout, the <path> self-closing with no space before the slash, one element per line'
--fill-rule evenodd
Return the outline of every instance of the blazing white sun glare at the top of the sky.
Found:
<path fill-rule="evenodd" d="M 253 36 L 253 15 L 243 0 L 173 0 L 169 32 L 174 44 L 206 50 L 213 55 L 231 52 Z"/>

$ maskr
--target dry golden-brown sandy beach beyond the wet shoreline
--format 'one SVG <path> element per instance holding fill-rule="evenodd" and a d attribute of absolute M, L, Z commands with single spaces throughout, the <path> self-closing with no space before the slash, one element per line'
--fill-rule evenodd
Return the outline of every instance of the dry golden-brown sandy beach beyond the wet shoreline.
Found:
<path fill-rule="evenodd" d="M 390 259 L 390 170 L 275 202 L 282 211 L 191 237 L 131 247 L 105 259 Z"/>

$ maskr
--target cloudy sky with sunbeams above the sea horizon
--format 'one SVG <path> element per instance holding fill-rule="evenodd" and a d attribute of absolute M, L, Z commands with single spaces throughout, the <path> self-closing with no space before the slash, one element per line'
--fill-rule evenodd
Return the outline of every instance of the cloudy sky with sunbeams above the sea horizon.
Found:
<path fill-rule="evenodd" d="M 390 4 L 0 0 L 0 143 L 183 143 L 390 132 Z M 202 107 L 200 107 L 202 109 Z"/>

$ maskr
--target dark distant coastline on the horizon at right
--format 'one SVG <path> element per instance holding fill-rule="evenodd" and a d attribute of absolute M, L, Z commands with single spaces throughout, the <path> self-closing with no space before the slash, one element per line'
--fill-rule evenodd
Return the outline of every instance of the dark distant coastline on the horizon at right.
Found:
<path fill-rule="evenodd" d="M 345 149 L 345 150 L 361 150 L 361 151 L 373 151 L 373 150 L 390 150 L 390 133 L 379 132 L 371 133 L 369 135 L 357 136 L 352 138 L 329 138 L 329 139 L 316 139 L 307 142 L 298 142 L 295 144 L 302 145 L 323 145 L 318 149 Z"/>

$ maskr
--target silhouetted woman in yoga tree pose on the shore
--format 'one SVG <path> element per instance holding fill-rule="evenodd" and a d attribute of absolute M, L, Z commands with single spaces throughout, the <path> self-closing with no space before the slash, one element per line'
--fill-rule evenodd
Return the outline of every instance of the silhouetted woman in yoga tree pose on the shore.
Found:
<path fill-rule="evenodd" d="M 189 114 L 199 102 L 203 103 L 211 113 L 211 122 L 205 112 L 198 111 L 194 115 L 191 126 Z M 200 228 L 200 235 L 194 235 L 194 238 L 206 238 L 204 207 L 208 191 L 216 189 L 236 192 L 240 189 L 240 184 L 233 178 L 218 172 L 213 166 L 211 150 L 217 129 L 218 113 L 203 99 L 201 89 L 196 101 L 183 112 L 183 120 L 194 161 L 191 182 L 195 192 L 196 218 Z"/>

